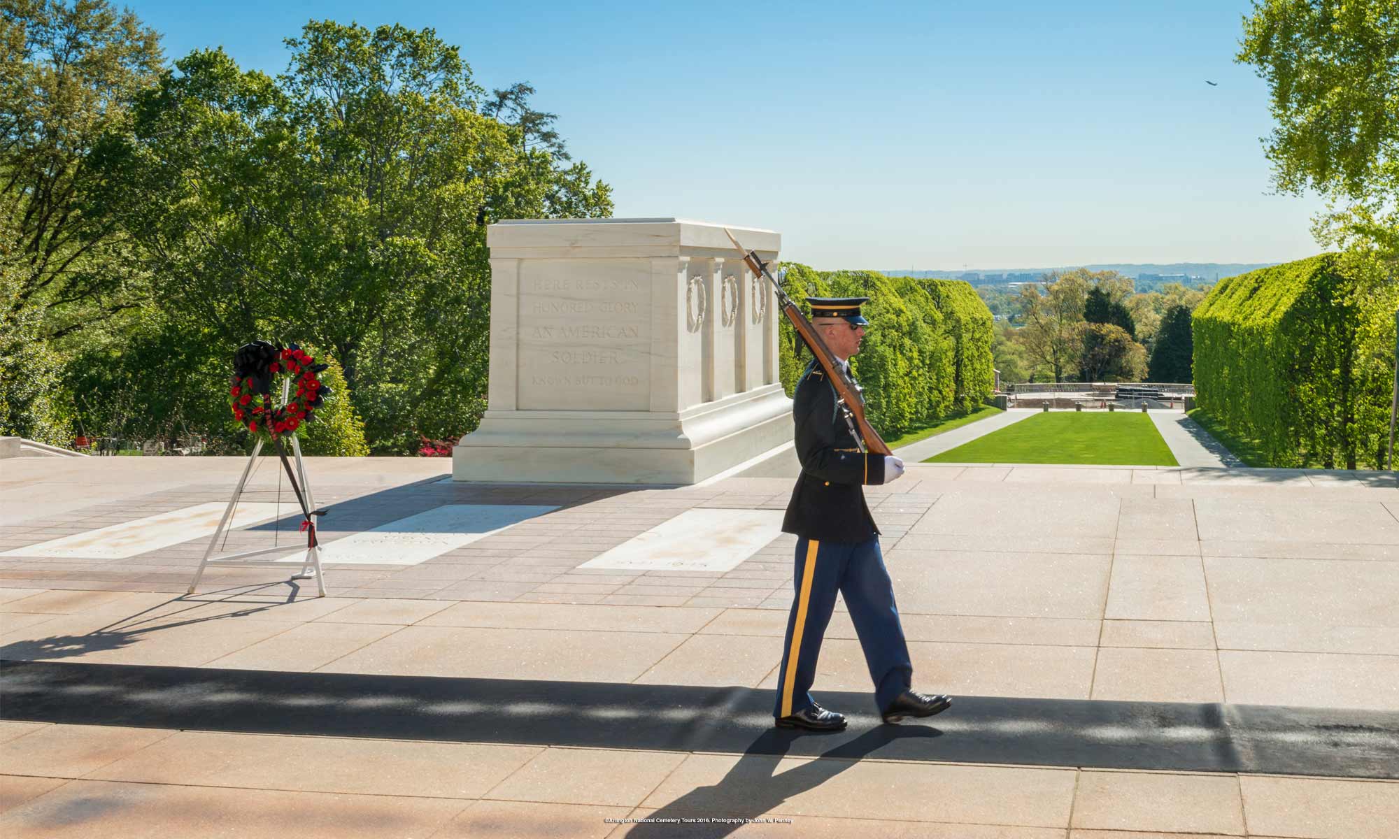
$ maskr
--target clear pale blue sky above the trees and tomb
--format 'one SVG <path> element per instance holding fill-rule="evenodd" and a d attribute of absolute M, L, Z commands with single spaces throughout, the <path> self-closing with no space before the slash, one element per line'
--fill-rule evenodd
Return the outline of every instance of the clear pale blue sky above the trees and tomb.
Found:
<path fill-rule="evenodd" d="M 118 0 L 120 3 L 120 0 Z M 776 229 L 818 268 L 1284 261 L 1248 0 L 1143 3 L 143 0 L 168 59 L 278 73 L 309 18 L 432 27 L 485 88 L 529 81 L 618 217 Z M 1206 80 L 1219 83 L 1210 87 Z"/>

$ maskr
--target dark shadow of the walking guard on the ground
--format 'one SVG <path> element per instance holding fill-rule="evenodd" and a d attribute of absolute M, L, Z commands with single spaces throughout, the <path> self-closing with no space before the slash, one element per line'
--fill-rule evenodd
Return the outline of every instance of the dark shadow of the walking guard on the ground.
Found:
<path fill-rule="evenodd" d="M 895 740 L 930 738 L 942 734 L 929 726 L 876 726 L 855 740 L 817 755 L 816 759 L 778 773 L 778 765 L 797 738 L 821 737 L 821 734 L 769 729 L 744 750 L 743 756 L 719 783 L 695 787 L 649 815 L 638 815 L 649 821 L 632 825 L 631 832 L 625 835 L 693 839 L 729 836 L 741 828 L 746 819 L 762 818 L 774 810 L 781 812 L 783 801 L 821 786 L 880 747 Z M 694 819 L 725 821 L 705 824 Z M 797 819 L 793 818 L 795 821 Z M 800 836 L 802 831 L 792 835 Z"/>

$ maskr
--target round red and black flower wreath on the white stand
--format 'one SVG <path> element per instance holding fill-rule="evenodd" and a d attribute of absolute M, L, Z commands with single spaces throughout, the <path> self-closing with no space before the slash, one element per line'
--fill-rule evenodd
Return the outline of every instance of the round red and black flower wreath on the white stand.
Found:
<path fill-rule="evenodd" d="M 327 365 L 316 364 L 297 344 L 281 347 L 267 341 L 243 344 L 234 352 L 234 376 L 229 379 L 228 406 L 234 418 L 253 436 L 278 439 L 309 422 L 330 389 L 316 373 Z M 287 404 L 277 406 L 273 397 L 273 378 L 291 376 Z"/>

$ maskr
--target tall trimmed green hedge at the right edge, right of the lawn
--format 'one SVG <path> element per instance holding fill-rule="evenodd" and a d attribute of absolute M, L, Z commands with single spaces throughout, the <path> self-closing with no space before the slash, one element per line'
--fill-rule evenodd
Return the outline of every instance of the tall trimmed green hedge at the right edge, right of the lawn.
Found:
<path fill-rule="evenodd" d="M 1192 317 L 1199 407 L 1269 466 L 1382 467 L 1395 305 L 1332 253 L 1221 280 Z"/>

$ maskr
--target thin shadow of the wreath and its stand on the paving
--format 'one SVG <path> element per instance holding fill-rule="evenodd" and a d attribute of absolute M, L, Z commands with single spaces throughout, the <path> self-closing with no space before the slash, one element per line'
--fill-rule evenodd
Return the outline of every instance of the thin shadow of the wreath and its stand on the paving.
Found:
<path fill-rule="evenodd" d="M 277 600 L 241 600 L 241 597 L 250 597 L 267 589 L 281 586 L 291 589 L 285 600 L 280 598 L 280 596 Z M 134 615 L 118 618 L 87 635 L 50 635 L 49 638 L 10 642 L 0 647 L 0 659 L 36 661 L 120 650 L 137 643 L 151 632 L 207 624 L 208 621 L 222 621 L 225 618 L 245 618 L 295 603 L 299 594 L 301 586 L 295 580 L 283 580 L 253 587 L 238 586 L 236 589 L 221 589 L 206 591 L 204 594 L 183 594 L 141 610 Z M 222 605 L 229 608 L 220 608 Z M 210 607 L 213 607 L 214 614 L 197 614 L 200 611 L 210 611 Z"/>

